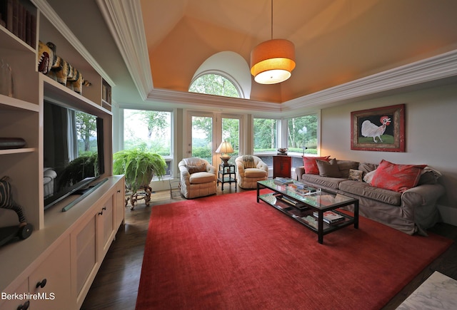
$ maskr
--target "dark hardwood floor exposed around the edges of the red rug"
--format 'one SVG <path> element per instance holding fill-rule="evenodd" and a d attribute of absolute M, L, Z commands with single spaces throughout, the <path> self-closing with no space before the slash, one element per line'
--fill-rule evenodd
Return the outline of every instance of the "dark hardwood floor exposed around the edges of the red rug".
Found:
<path fill-rule="evenodd" d="M 221 186 L 219 186 L 217 195 L 235 192 L 235 186 L 234 184 L 231 186 L 225 184 L 224 192 L 221 191 Z M 238 192 L 240 191 L 242 190 L 238 189 Z M 156 192 L 151 198 L 152 207 L 154 205 L 164 205 L 170 202 L 184 200 L 182 197 L 171 199 L 169 191 Z M 103 264 L 101 264 L 99 273 L 81 309 L 135 309 L 150 215 L 151 207 L 146 207 L 144 202 L 137 203 L 133 211 L 129 207 L 126 207 L 125 224 L 119 228 L 119 232 L 116 234 L 116 240 L 111 244 L 111 248 L 106 254 Z M 457 227 L 449 224 L 437 224 L 429 232 L 441 234 L 457 241 Z M 457 260 L 455 257 L 457 257 L 456 243 L 452 244 L 441 257 L 438 257 L 426 269 L 423 269 L 383 309 L 396 309 L 434 271 L 457 279 Z"/>

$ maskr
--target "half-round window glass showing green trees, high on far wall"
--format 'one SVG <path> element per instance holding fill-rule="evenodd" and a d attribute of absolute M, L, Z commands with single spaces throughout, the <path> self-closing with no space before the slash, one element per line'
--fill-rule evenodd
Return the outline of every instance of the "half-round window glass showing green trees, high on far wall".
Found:
<path fill-rule="evenodd" d="M 209 95 L 224 95 L 240 98 L 240 91 L 229 78 L 216 73 L 205 73 L 196 78 L 189 91 L 193 93 L 207 93 Z"/>

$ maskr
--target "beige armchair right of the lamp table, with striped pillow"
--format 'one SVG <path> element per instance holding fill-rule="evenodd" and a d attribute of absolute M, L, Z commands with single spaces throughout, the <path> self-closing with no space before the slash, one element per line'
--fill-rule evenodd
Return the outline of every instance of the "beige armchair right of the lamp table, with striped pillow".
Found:
<path fill-rule="evenodd" d="M 236 179 L 241 188 L 257 188 L 257 181 L 266 180 L 268 177 L 268 165 L 257 156 L 243 155 L 237 157 L 235 162 Z"/>

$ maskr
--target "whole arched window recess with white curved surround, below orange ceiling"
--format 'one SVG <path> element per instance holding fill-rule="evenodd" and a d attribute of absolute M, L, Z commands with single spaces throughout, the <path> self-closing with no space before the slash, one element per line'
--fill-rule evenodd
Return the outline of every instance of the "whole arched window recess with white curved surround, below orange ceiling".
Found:
<path fill-rule="evenodd" d="M 189 91 L 249 99 L 251 72 L 238 53 L 223 51 L 209 57 L 192 78 Z"/>

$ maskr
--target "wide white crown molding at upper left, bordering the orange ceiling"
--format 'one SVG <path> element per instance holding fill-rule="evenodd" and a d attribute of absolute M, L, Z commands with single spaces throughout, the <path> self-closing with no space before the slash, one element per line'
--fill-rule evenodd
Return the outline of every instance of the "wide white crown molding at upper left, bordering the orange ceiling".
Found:
<path fill-rule="evenodd" d="M 154 86 L 140 1 L 97 0 L 97 4 L 141 98 L 146 100 Z"/>

